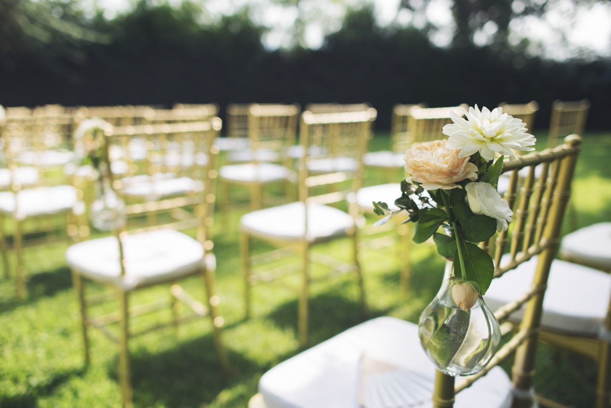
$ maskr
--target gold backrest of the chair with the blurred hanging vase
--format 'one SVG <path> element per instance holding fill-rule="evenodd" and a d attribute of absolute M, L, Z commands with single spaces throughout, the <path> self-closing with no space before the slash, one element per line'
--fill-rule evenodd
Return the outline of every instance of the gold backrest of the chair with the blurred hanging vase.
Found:
<path fill-rule="evenodd" d="M 107 188 L 125 200 L 115 233 L 194 228 L 206 250 L 216 201 L 218 117 L 203 122 L 114 127 L 106 131 Z M 122 169 L 117 172 L 115 169 Z"/>

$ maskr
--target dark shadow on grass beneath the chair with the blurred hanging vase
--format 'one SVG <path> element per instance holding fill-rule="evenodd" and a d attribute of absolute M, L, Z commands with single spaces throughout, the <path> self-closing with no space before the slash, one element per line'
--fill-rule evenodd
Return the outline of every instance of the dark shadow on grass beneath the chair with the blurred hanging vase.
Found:
<path fill-rule="evenodd" d="M 133 354 L 134 406 L 208 406 L 222 390 L 261 370 L 240 354 L 226 351 L 232 367 L 229 377 L 222 376 L 211 336 L 177 344 L 164 352 Z M 117 378 L 118 360 L 114 362 L 111 370 Z"/>

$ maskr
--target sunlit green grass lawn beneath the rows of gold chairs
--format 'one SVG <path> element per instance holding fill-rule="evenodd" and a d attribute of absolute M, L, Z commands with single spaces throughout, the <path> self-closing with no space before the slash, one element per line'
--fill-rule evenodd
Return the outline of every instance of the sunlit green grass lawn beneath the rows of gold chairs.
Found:
<path fill-rule="evenodd" d="M 538 136 L 535 134 L 535 136 Z M 371 150 L 387 148 L 378 134 Z M 538 147 L 544 148 L 542 136 Z M 572 203 L 577 226 L 611 220 L 610 133 L 588 133 L 577 167 Z M 370 173 L 367 184 L 381 181 Z M 398 181 L 398 180 L 397 180 Z M 225 318 L 223 338 L 235 373 L 223 379 L 213 348 L 210 321 L 204 319 L 151 333 L 131 342 L 136 407 L 246 407 L 266 370 L 299 352 L 296 338 L 296 294 L 281 286 L 262 285 L 253 291 L 253 316 L 244 319 L 243 281 L 237 224 L 241 213 L 218 217 L 214 252 L 218 260 L 217 291 Z M 568 231 L 565 222 L 564 231 Z M 79 315 L 66 245 L 26 252 L 29 297 L 16 299 L 14 279 L 0 280 L 0 407 L 117 407 L 118 352 L 97 330 L 90 330 L 92 364 L 84 366 Z M 326 244 L 329 253 L 349 253 L 347 241 Z M 434 247 L 409 248 L 411 290 L 399 289 L 398 250 L 369 250 L 362 268 L 371 316 L 390 315 L 415 322 L 433 299 L 443 274 Z M 494 283 L 492 283 L 494 285 Z M 186 282 L 202 294 L 199 278 Z M 92 288 L 94 291 L 97 288 Z M 136 300 L 167 297 L 162 288 L 141 291 Z M 362 321 L 357 286 L 348 276 L 312 287 L 310 344 Z M 169 316 L 169 311 L 164 318 Z M 510 366 L 510 362 L 507 364 Z M 585 357 L 539 348 L 536 390 L 544 396 L 579 407 L 593 406 L 596 366 Z"/>

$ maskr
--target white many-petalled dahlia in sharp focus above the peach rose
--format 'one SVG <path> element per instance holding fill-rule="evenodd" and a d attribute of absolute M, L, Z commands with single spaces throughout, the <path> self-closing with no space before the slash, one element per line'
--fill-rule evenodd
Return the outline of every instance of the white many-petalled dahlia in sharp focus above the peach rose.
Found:
<path fill-rule="evenodd" d="M 448 137 L 448 148 L 460 150 L 459 157 L 465 158 L 479 151 L 486 161 L 494 159 L 495 153 L 513 156 L 513 150 L 532 151 L 535 137 L 526 133 L 521 120 L 503 114 L 502 108 L 490 111 L 477 105 L 465 111 L 466 119 L 452 112 L 453 124 L 445 125 L 443 133 Z"/>

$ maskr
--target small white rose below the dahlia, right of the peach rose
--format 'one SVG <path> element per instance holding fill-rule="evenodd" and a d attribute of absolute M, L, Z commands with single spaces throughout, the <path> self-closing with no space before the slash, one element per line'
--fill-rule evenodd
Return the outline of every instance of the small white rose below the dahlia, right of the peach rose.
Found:
<path fill-rule="evenodd" d="M 467 203 L 474 214 L 484 214 L 497 220 L 497 231 L 506 231 L 513 211 L 492 184 L 474 181 L 464 187 Z"/>

